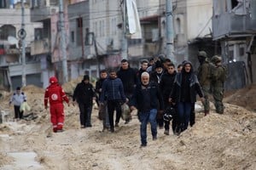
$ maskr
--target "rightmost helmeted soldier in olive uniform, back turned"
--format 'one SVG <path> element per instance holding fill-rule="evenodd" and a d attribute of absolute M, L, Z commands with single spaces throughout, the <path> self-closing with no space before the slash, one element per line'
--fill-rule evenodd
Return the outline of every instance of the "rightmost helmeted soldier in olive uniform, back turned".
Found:
<path fill-rule="evenodd" d="M 224 113 L 224 81 L 226 79 L 226 68 L 221 63 L 221 57 L 214 55 L 212 57 L 212 95 L 214 99 L 214 105 L 216 112 L 219 114 Z"/>

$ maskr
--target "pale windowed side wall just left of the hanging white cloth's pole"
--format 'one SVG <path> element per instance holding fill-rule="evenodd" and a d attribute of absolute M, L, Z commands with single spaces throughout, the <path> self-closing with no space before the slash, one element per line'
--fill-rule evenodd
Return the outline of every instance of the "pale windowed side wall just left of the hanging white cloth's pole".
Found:
<path fill-rule="evenodd" d="M 112 41 L 113 49 L 121 47 L 119 41 L 121 31 L 117 27 L 122 22 L 119 3 L 119 0 L 96 1 L 96 3 L 90 1 L 90 31 L 94 31 L 96 35 L 99 54 L 104 54 Z"/>

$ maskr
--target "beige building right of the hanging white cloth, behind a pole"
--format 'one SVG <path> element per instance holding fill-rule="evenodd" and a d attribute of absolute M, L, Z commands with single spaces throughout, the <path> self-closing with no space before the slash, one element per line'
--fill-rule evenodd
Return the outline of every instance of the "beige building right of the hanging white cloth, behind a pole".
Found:
<path fill-rule="evenodd" d="M 135 47 L 130 44 L 131 57 L 166 54 L 166 0 L 140 0 L 137 6 L 143 39 Z M 210 56 L 219 51 L 212 42 L 212 0 L 172 0 L 171 32 L 176 64 L 189 59 L 197 67 L 199 50 Z"/>

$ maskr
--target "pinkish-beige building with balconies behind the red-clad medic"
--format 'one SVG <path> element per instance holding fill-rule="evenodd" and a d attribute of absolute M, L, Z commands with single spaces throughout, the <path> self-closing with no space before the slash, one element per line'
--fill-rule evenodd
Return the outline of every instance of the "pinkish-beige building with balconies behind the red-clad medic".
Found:
<path fill-rule="evenodd" d="M 67 17 L 67 4 L 69 3 L 69 1 L 63 1 L 67 60 L 69 60 L 69 22 Z M 32 42 L 32 55 L 40 58 L 41 80 L 44 88 L 49 85 L 48 80 L 51 76 L 56 76 L 60 82 L 63 82 L 59 8 L 59 0 L 32 0 L 31 3 L 31 20 L 43 23 L 43 28 L 38 30 L 39 36 Z M 68 71 L 69 74 L 70 72 Z"/>

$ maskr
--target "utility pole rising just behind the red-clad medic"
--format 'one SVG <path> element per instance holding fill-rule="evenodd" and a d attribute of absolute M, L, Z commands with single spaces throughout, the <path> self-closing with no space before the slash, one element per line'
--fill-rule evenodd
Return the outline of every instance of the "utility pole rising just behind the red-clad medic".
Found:
<path fill-rule="evenodd" d="M 67 51 L 66 51 L 66 35 L 65 35 L 65 22 L 64 22 L 64 10 L 63 0 L 59 1 L 59 14 L 61 25 L 61 54 L 62 54 L 62 71 L 63 71 L 63 83 L 68 81 L 67 76 Z"/>

